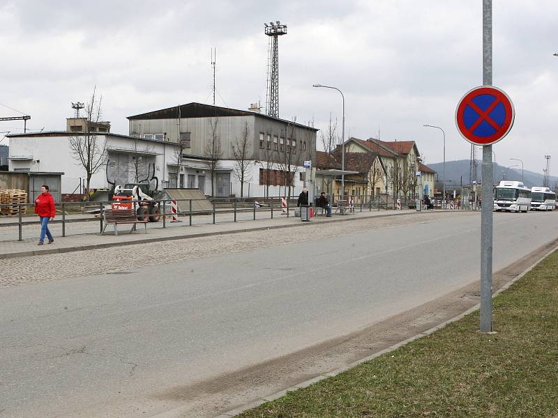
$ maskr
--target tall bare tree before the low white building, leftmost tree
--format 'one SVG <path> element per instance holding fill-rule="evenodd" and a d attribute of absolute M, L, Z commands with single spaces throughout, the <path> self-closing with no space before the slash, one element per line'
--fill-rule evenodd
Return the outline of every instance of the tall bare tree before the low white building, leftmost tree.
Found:
<path fill-rule="evenodd" d="M 89 190 L 91 187 L 91 177 L 97 173 L 107 161 L 105 153 L 106 143 L 103 139 L 99 139 L 96 134 L 96 123 L 100 122 L 102 115 L 101 102 L 103 97 L 96 99 L 96 90 L 93 88 L 93 93 L 89 102 L 85 105 L 86 122 L 84 131 L 79 132 L 70 137 L 70 149 L 72 150 L 73 157 L 77 160 L 77 164 L 82 166 L 85 170 L 85 192 L 90 196 Z"/>

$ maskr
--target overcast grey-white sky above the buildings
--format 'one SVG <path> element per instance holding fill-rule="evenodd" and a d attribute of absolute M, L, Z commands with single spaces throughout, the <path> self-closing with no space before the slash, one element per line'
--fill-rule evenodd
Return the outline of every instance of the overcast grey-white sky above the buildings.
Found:
<path fill-rule="evenodd" d="M 493 146 L 496 161 L 519 158 L 542 173 L 550 154 L 555 175 L 558 1 L 494 0 L 493 15 L 493 84 L 516 112 Z M 0 116 L 21 111 L 33 131 L 64 130 L 71 102 L 97 86 L 112 132 L 128 134 L 126 116 L 211 104 L 212 47 L 216 104 L 265 105 L 271 20 L 288 31 L 279 38 L 281 118 L 324 128 L 331 112 L 340 125 L 340 95 L 312 88 L 327 84 L 345 94 L 347 137 L 414 140 L 426 164 L 441 162 L 442 132 L 427 123 L 444 128 L 446 161 L 469 158 L 454 119 L 458 100 L 482 84 L 481 0 L 0 0 Z M 22 132 L 22 121 L 0 122 L 8 130 Z"/>

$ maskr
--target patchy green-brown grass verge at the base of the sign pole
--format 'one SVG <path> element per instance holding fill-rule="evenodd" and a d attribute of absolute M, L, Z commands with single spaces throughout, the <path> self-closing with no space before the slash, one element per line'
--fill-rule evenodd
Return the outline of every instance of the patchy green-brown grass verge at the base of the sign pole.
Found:
<path fill-rule="evenodd" d="M 558 418 L 558 252 L 478 311 L 241 418 Z"/>

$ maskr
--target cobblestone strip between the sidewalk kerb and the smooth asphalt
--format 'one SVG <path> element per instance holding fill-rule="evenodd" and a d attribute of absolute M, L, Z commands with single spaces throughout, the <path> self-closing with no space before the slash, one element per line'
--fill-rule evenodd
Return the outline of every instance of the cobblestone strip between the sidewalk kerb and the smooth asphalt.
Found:
<path fill-rule="evenodd" d="M 403 217 L 354 219 L 350 222 L 329 222 L 326 224 L 293 226 L 286 229 L 188 238 L 170 242 L 152 242 L 64 254 L 7 258 L 0 262 L 0 288 L 39 284 L 45 281 L 71 277 L 107 274 L 129 268 L 138 268 L 138 265 L 159 265 L 188 261 L 217 254 L 231 254 L 276 245 L 288 245 L 295 242 L 322 240 L 365 230 L 392 228 L 415 222 L 431 223 L 448 217 L 476 215 L 474 212 L 439 212 L 430 213 L 428 217 L 413 214 Z M 115 279 L 117 277 L 115 276 Z"/>

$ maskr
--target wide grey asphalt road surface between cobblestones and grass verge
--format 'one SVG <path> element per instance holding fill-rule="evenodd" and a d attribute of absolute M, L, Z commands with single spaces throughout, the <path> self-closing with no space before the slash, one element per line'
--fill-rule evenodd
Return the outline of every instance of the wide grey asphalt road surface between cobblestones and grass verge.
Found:
<path fill-rule="evenodd" d="M 478 213 L 417 219 L 0 289 L 0 417 L 149 417 L 184 405 L 158 416 L 218 415 L 181 389 L 218 392 L 217 376 L 478 280 Z M 494 224 L 495 270 L 558 238 L 558 212 L 498 213 Z"/>

